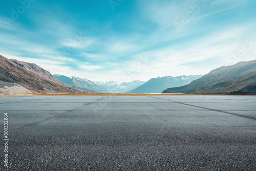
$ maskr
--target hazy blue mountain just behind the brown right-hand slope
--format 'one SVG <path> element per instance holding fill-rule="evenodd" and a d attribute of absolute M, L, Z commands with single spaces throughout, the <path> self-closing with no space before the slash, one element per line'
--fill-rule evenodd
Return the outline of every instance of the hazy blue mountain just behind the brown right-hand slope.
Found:
<path fill-rule="evenodd" d="M 181 75 L 177 77 L 165 76 L 152 78 L 138 88 L 130 91 L 130 93 L 161 93 L 169 87 L 184 86 L 202 76 L 203 75 Z"/>

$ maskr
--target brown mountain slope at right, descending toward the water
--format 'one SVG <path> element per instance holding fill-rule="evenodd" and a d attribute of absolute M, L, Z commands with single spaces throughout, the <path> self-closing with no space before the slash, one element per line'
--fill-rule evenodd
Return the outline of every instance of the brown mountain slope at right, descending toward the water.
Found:
<path fill-rule="evenodd" d="M 212 70 L 186 86 L 168 88 L 162 93 L 227 94 L 256 85 L 256 60 L 239 62 Z M 249 90 L 249 89 L 246 89 Z M 240 94 L 255 94 L 254 91 Z"/>

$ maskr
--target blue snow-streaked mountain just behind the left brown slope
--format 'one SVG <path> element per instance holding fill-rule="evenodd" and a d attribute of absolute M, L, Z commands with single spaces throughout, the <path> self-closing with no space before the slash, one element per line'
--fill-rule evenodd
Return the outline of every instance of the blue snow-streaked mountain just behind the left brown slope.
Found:
<path fill-rule="evenodd" d="M 100 86 L 100 85 L 96 84 L 95 82 L 90 81 L 85 78 L 67 77 L 67 76 L 58 75 L 58 74 L 54 74 L 53 76 L 56 77 L 61 82 L 66 83 L 73 88 L 94 91 L 94 92 L 98 92 L 98 93 L 108 93 L 109 92 L 108 89 L 104 88 L 103 86 Z"/>

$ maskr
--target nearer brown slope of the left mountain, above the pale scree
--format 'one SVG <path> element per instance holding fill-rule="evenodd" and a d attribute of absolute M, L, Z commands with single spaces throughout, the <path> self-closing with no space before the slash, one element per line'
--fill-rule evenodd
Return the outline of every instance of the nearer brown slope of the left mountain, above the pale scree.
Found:
<path fill-rule="evenodd" d="M 16 82 L 28 90 L 37 93 L 90 93 L 89 91 L 74 89 L 66 84 L 59 84 L 46 79 L 38 73 L 32 72 L 31 69 L 24 69 L 18 66 L 2 55 L 0 55 L 0 80 Z"/>

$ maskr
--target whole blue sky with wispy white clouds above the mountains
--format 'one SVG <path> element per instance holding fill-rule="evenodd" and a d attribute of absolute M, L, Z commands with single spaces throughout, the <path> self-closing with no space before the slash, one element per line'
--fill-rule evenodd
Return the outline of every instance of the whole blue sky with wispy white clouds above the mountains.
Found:
<path fill-rule="evenodd" d="M 256 1 L 1 1 L 0 54 L 94 81 L 256 59 Z"/>

